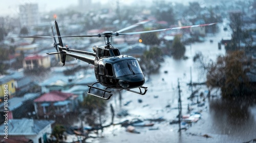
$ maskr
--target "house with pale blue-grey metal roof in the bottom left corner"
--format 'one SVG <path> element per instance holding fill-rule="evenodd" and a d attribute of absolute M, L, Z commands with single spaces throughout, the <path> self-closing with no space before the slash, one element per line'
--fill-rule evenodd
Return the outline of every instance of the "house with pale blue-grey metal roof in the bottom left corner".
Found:
<path fill-rule="evenodd" d="M 0 142 L 45 142 L 52 133 L 53 120 L 12 119 L 0 125 Z M 8 130 L 8 134 L 5 134 Z"/>

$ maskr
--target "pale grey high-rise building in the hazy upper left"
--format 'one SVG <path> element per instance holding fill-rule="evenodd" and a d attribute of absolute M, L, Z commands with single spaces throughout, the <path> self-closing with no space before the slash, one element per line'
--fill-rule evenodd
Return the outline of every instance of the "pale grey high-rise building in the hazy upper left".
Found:
<path fill-rule="evenodd" d="M 36 26 L 40 22 L 38 5 L 25 4 L 19 6 L 20 27 Z"/>

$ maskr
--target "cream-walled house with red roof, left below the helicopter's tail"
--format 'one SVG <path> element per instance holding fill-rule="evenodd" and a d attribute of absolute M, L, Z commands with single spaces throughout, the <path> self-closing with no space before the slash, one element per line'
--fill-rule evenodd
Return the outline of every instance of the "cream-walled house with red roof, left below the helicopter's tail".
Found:
<path fill-rule="evenodd" d="M 29 55 L 24 58 L 23 68 L 26 70 L 38 69 L 38 68 L 50 68 L 51 59 L 50 56 L 44 55 Z"/>

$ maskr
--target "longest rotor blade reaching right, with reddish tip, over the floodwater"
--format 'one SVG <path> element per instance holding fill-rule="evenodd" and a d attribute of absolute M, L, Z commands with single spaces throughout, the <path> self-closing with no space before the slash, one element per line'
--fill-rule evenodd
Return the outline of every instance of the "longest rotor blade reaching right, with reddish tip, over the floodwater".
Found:
<path fill-rule="evenodd" d="M 169 30 L 186 29 L 186 28 L 193 28 L 193 27 L 204 27 L 204 26 L 215 25 L 215 24 L 217 24 L 217 23 L 218 23 L 218 22 L 215 22 L 215 23 L 208 23 L 208 24 L 203 24 L 203 25 L 184 26 L 184 27 L 175 27 L 175 28 L 158 29 L 158 30 L 149 30 L 149 31 L 118 33 L 118 35 L 133 35 L 133 34 L 142 34 L 142 33 L 150 33 L 150 32 L 160 32 L 160 31 L 169 31 Z"/>

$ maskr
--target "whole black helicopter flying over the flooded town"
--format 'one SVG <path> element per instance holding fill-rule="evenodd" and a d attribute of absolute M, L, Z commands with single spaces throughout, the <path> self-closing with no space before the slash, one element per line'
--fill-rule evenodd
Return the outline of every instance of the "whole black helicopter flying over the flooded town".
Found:
<path fill-rule="evenodd" d="M 215 22 L 215 23 L 208 23 L 203 25 L 121 33 L 123 31 L 129 30 L 139 25 L 143 25 L 148 21 L 150 20 L 140 21 L 132 26 L 126 27 L 116 32 L 105 31 L 97 35 L 61 36 L 58 28 L 58 23 L 55 17 L 55 28 L 56 28 L 57 36 L 54 35 L 54 30 L 52 27 L 53 36 L 26 36 L 26 37 L 27 38 L 53 38 L 54 39 L 53 46 L 55 47 L 57 52 L 47 53 L 47 54 L 60 55 L 60 61 L 61 63 L 63 63 L 62 66 L 65 65 L 66 56 L 71 56 L 73 58 L 76 58 L 94 65 L 94 74 L 97 82 L 93 83 L 92 85 L 88 85 L 89 91 L 87 92 L 87 94 L 100 99 L 109 100 L 113 95 L 111 93 L 112 91 L 109 89 L 126 90 L 126 91 L 131 91 L 140 95 L 144 95 L 147 92 L 147 87 L 143 86 L 143 84 L 145 83 L 145 77 L 140 68 L 139 61 L 135 57 L 128 56 L 128 55 L 121 55 L 119 49 L 117 49 L 112 45 L 112 37 L 119 36 L 119 35 L 133 35 L 133 34 L 142 34 L 142 33 L 150 33 L 150 32 L 185 29 L 185 28 L 192 28 L 192 27 L 204 27 L 204 26 L 215 25 L 216 23 L 218 23 L 218 22 Z M 103 37 L 105 41 L 105 45 L 104 46 L 94 45 L 92 47 L 93 52 L 80 51 L 80 50 L 70 49 L 68 46 L 63 46 L 62 39 L 61 39 L 63 37 L 99 37 L 99 38 Z M 56 38 L 58 38 L 58 42 L 56 41 Z M 105 88 L 100 88 L 98 86 L 95 86 L 98 83 L 104 86 Z M 134 90 L 136 88 L 138 90 Z M 92 93 L 91 92 L 92 89 L 103 91 L 103 94 L 98 95 L 98 94 Z M 108 93 L 109 96 L 105 96 L 106 93 Z"/>

